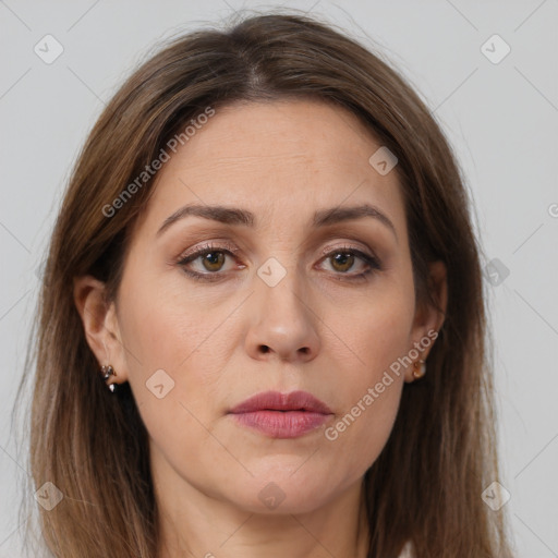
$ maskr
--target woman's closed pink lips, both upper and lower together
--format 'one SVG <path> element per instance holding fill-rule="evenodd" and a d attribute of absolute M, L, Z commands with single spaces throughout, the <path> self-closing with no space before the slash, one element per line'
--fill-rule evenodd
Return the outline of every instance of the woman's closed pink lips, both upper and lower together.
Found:
<path fill-rule="evenodd" d="M 265 391 L 229 412 L 241 426 L 271 438 L 296 438 L 322 426 L 333 414 L 326 403 L 307 391 Z"/>

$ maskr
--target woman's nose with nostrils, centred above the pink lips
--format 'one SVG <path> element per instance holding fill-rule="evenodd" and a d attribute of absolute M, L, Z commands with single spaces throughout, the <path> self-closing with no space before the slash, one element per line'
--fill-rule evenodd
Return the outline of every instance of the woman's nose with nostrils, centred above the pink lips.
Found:
<path fill-rule="evenodd" d="M 317 314 L 301 292 L 295 272 L 290 271 L 269 287 L 255 277 L 256 288 L 248 299 L 251 326 L 246 352 L 253 359 L 308 362 L 319 352 Z"/>

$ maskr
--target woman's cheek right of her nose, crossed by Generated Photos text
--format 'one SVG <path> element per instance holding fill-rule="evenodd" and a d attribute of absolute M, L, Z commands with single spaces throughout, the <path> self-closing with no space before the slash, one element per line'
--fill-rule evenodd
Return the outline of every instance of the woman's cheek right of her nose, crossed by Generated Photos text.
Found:
<path fill-rule="evenodd" d="M 352 365 L 343 366 L 338 359 L 335 368 L 337 374 L 342 371 L 343 381 L 329 378 L 337 385 L 343 412 L 325 438 L 332 451 L 353 457 L 351 468 L 356 477 L 376 460 L 389 438 L 403 388 L 405 367 L 401 362 L 411 349 L 412 283 L 393 281 L 376 294 L 367 304 L 349 304 L 347 319 L 337 319 L 340 337 L 350 348 L 344 356 Z"/>

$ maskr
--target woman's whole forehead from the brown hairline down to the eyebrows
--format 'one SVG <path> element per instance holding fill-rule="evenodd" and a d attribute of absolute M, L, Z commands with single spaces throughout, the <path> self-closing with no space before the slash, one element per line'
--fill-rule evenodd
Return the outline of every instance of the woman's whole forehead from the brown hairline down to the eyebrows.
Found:
<path fill-rule="evenodd" d="M 326 102 L 230 105 L 169 153 L 145 217 L 160 226 L 196 202 L 304 220 L 316 209 L 373 203 L 404 229 L 397 172 L 381 174 L 369 162 L 381 147 L 354 114 Z"/>

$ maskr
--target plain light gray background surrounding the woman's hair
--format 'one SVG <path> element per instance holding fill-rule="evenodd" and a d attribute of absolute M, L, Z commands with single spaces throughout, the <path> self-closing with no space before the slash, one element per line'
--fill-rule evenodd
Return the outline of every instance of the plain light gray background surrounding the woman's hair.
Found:
<path fill-rule="evenodd" d="M 0 0 L 0 556 L 21 555 L 15 480 L 26 472 L 10 420 L 36 271 L 86 133 L 158 41 L 241 8 L 286 5 L 326 16 L 379 48 L 435 111 L 458 154 L 476 206 L 483 265 L 493 262 L 486 288 L 496 343 L 499 481 L 511 494 L 506 507 L 518 556 L 557 557 L 558 2 L 201 4 Z M 64 49 L 51 64 L 34 52 L 47 34 Z M 494 34 L 511 48 L 497 64 L 481 50 Z M 493 56 L 500 54 L 492 44 Z"/>

